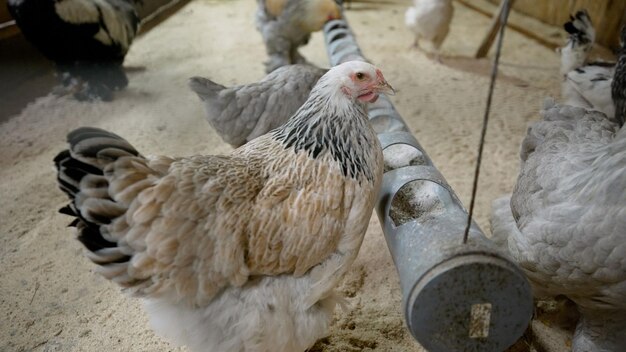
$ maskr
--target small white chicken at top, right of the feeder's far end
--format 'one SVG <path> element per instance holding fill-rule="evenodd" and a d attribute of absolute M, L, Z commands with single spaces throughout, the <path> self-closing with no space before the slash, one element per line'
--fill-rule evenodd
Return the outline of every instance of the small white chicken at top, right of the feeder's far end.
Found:
<path fill-rule="evenodd" d="M 404 14 L 404 23 L 415 32 L 413 45 L 419 48 L 419 41 L 427 40 L 438 57 L 439 48 L 448 36 L 453 14 L 452 0 L 413 0 L 413 6 Z"/>

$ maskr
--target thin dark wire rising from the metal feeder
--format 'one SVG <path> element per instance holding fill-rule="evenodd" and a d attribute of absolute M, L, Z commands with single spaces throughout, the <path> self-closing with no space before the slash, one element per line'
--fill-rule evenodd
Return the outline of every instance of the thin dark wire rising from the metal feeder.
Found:
<path fill-rule="evenodd" d="M 504 29 L 509 18 L 509 0 L 503 0 L 504 6 L 500 17 L 500 29 L 498 31 L 498 43 L 496 44 L 496 56 L 491 68 L 491 80 L 489 82 L 489 94 L 487 95 L 487 107 L 483 117 L 483 127 L 480 132 L 480 143 L 478 144 L 478 157 L 476 158 L 476 169 L 474 170 L 474 184 L 472 186 L 472 198 L 470 200 L 469 212 L 467 215 L 467 226 L 463 234 L 463 244 L 467 243 L 469 230 L 472 226 L 472 216 L 474 215 L 474 203 L 476 201 L 476 191 L 478 189 L 478 177 L 480 176 L 480 164 L 483 157 L 483 148 L 485 146 L 485 135 L 487 134 L 487 124 L 489 123 L 489 113 L 491 112 L 491 99 L 493 90 L 496 85 L 496 77 L 498 76 L 498 64 L 500 63 L 500 52 L 502 51 L 502 42 L 504 38 Z"/>

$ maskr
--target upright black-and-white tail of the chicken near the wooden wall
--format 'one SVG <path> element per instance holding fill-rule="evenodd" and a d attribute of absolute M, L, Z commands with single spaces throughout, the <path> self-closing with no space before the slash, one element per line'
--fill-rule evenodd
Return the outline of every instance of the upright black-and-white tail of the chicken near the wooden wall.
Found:
<path fill-rule="evenodd" d="M 596 40 L 596 32 L 586 10 L 570 16 L 563 28 L 569 33 L 567 44 L 561 48 L 561 74 L 565 75 L 585 64 Z"/>

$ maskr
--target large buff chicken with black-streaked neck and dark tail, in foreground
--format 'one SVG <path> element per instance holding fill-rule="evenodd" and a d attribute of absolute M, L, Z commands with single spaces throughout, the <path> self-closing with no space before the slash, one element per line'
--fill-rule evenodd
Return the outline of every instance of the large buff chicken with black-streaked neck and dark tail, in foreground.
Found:
<path fill-rule="evenodd" d="M 104 277 L 192 351 L 302 351 L 324 336 L 357 256 L 383 156 L 366 105 L 376 67 L 332 68 L 284 125 L 230 155 L 143 157 L 96 128 L 68 135 L 58 182 Z"/>

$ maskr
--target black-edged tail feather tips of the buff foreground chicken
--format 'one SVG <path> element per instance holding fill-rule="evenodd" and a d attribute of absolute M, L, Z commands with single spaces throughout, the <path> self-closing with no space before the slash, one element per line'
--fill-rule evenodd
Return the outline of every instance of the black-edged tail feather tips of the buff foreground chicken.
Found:
<path fill-rule="evenodd" d="M 76 129 L 68 134 L 67 141 L 69 150 L 54 158 L 59 187 L 70 198 L 59 212 L 75 217 L 70 226 L 77 228 L 78 240 L 96 264 L 106 267 L 129 261 L 130 256 L 101 227 L 126 211 L 125 205 L 109 195 L 105 174 L 107 166 L 118 158 L 140 154 L 123 138 L 97 128 Z M 106 270 L 103 274 L 107 276 Z"/>

